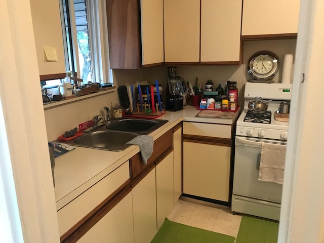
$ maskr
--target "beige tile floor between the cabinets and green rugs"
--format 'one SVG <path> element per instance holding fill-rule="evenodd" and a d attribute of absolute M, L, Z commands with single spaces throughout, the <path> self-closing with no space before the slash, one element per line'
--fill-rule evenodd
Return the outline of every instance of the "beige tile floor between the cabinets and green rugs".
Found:
<path fill-rule="evenodd" d="M 242 216 L 233 215 L 225 206 L 181 196 L 167 218 L 236 238 Z"/>

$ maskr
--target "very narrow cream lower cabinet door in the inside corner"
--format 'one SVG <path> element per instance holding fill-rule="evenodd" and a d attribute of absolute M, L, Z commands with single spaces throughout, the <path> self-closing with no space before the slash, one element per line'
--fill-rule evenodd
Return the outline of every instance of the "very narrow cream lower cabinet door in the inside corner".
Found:
<path fill-rule="evenodd" d="M 182 128 L 173 133 L 173 166 L 174 166 L 174 204 L 181 196 L 182 184 Z"/>

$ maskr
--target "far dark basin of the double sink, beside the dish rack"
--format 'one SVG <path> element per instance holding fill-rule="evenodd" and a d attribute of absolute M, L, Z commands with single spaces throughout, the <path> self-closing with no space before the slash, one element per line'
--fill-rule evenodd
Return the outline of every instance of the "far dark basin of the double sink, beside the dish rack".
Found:
<path fill-rule="evenodd" d="M 132 132 L 145 135 L 166 124 L 168 120 L 122 119 L 106 127 L 108 130 Z"/>

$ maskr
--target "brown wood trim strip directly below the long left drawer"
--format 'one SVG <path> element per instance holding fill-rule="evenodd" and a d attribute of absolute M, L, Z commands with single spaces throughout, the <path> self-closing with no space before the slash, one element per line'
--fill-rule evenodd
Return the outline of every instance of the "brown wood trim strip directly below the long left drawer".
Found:
<path fill-rule="evenodd" d="M 74 243 L 99 222 L 121 199 L 131 191 L 130 180 L 118 187 L 96 208 L 65 232 L 60 240 L 62 243 Z"/>

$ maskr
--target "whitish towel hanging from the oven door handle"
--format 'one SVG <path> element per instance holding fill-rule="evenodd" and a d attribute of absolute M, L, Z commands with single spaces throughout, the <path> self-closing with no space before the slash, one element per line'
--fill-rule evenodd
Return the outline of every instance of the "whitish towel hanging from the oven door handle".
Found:
<path fill-rule="evenodd" d="M 286 145 L 262 143 L 259 181 L 284 183 Z"/>

